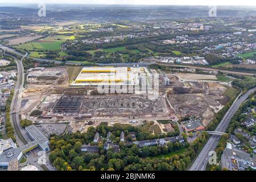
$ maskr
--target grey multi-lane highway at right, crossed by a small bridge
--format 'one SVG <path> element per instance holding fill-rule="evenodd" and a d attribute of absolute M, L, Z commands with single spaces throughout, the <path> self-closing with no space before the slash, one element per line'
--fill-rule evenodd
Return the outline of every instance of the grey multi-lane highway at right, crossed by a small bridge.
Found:
<path fill-rule="evenodd" d="M 233 105 L 230 107 L 228 112 L 225 114 L 224 118 L 222 118 L 221 122 L 218 124 L 215 131 L 225 132 L 228 128 L 230 119 L 236 113 L 240 105 L 249 97 L 250 94 L 256 91 L 256 88 L 250 89 L 243 96 L 234 101 Z M 201 150 L 200 154 L 197 156 L 195 162 L 192 164 L 189 171 L 205 171 L 208 159 L 209 159 L 209 151 L 214 151 L 218 145 L 217 136 L 212 135 L 207 143 L 205 144 L 203 150 Z"/>

